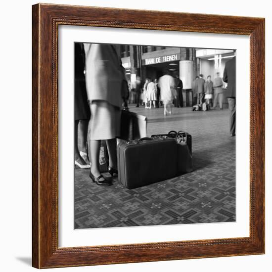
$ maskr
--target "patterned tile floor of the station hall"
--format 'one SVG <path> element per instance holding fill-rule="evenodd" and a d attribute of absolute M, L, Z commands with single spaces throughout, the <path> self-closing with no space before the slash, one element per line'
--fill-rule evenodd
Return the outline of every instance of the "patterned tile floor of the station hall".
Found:
<path fill-rule="evenodd" d="M 74 227 L 132 227 L 235 221 L 235 137 L 229 112 L 191 111 L 191 107 L 145 109 L 147 136 L 171 130 L 192 136 L 193 172 L 148 186 L 127 189 L 117 179 L 98 186 L 89 169 L 75 168 Z"/>

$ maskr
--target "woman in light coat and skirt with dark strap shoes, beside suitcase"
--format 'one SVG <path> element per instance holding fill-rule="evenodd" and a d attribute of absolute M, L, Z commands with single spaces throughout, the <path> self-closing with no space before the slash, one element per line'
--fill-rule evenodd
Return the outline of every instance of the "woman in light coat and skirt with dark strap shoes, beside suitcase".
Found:
<path fill-rule="evenodd" d="M 120 136 L 121 109 L 128 99 L 128 84 L 118 45 L 84 44 L 86 88 L 91 109 L 89 135 L 91 148 L 90 178 L 98 185 L 111 185 L 99 171 L 100 140 L 106 140 L 108 172 L 117 175 L 116 137 Z M 88 141 L 89 142 L 89 141 Z"/>

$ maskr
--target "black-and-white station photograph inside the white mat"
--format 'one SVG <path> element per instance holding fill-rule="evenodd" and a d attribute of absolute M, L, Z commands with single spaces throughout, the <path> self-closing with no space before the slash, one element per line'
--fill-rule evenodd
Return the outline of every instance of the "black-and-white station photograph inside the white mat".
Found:
<path fill-rule="evenodd" d="M 235 222 L 235 54 L 74 43 L 75 229 Z"/>

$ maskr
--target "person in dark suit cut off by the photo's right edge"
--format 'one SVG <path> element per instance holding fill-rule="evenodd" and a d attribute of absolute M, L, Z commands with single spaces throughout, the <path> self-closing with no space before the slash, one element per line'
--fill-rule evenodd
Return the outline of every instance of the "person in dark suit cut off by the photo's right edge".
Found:
<path fill-rule="evenodd" d="M 226 97 L 229 109 L 230 136 L 235 136 L 236 57 L 226 62 L 223 81 L 227 83 Z"/>

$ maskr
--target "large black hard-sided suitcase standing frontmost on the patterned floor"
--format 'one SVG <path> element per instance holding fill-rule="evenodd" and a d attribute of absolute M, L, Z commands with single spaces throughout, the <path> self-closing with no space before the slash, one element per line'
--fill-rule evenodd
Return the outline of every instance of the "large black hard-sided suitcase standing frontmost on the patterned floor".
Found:
<path fill-rule="evenodd" d="M 118 180 L 129 189 L 171 179 L 177 175 L 174 138 L 142 138 L 117 145 Z"/>

